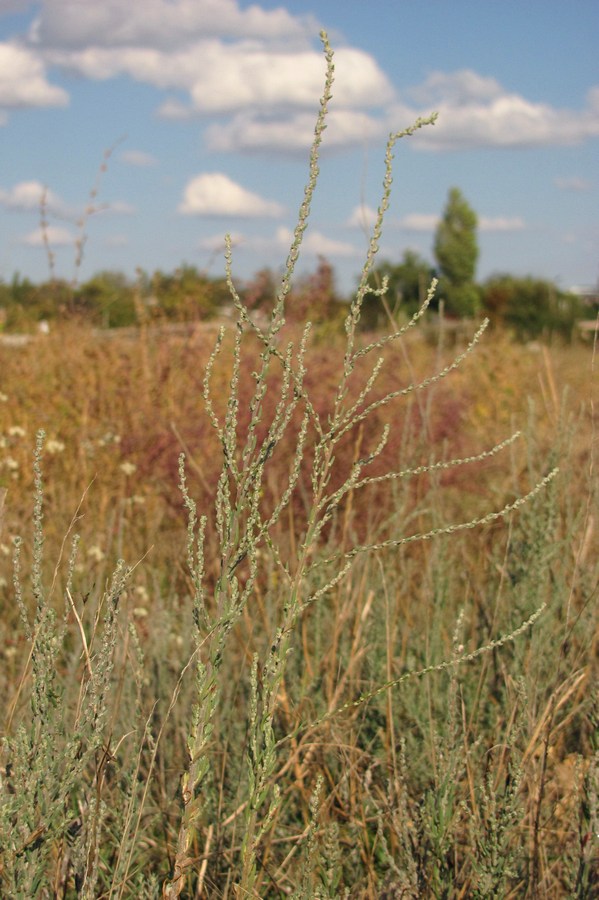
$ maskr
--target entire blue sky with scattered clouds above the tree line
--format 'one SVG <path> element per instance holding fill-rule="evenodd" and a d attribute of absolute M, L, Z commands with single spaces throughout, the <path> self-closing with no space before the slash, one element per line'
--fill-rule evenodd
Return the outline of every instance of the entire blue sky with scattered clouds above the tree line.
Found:
<path fill-rule="evenodd" d="M 457 186 L 479 216 L 478 277 L 563 288 L 599 274 L 597 0 L 0 0 L 0 278 L 182 263 L 249 278 L 284 262 L 324 76 L 336 81 L 301 265 L 355 283 L 400 142 L 381 259 L 432 260 Z M 111 149 L 112 148 L 112 149 Z M 366 223 L 366 224 L 365 224 Z"/>

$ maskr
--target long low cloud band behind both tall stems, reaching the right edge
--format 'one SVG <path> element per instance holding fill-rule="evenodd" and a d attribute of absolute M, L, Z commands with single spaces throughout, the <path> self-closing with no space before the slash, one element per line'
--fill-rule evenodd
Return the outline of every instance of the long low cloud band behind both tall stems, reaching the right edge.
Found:
<path fill-rule="evenodd" d="M 576 145 L 599 135 L 599 93 L 594 89 L 582 110 L 557 109 L 509 93 L 494 78 L 464 71 L 437 72 L 420 89 L 408 93 L 419 102 L 391 103 L 384 115 L 367 109 L 366 103 L 360 108 L 357 99 L 353 108 L 350 103 L 342 109 L 333 107 L 327 147 L 352 146 L 366 137 L 380 140 L 389 131 L 404 128 L 433 111 L 439 112 L 435 127 L 424 128 L 410 139 L 430 151 Z M 370 96 L 377 96 L 376 88 L 370 89 Z M 169 112 L 179 117 L 193 114 L 191 107 L 180 104 Z M 273 116 L 248 106 L 228 121 L 210 125 L 206 142 L 221 152 L 289 152 L 309 146 L 313 129 L 312 113 L 291 111 Z"/>

